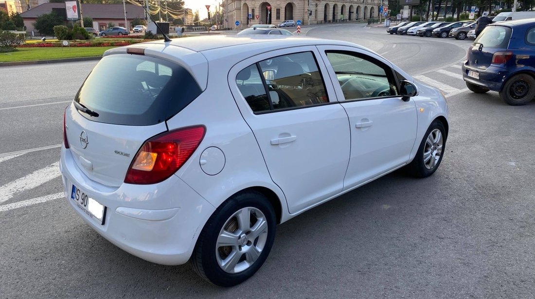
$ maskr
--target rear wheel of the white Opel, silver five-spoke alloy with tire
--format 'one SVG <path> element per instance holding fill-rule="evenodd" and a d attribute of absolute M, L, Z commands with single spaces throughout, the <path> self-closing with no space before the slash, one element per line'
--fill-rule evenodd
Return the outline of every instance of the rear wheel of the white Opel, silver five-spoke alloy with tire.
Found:
<path fill-rule="evenodd" d="M 193 269 L 222 287 L 249 279 L 269 255 L 276 222 L 273 206 L 261 193 L 234 195 L 205 224 L 190 259 Z"/>

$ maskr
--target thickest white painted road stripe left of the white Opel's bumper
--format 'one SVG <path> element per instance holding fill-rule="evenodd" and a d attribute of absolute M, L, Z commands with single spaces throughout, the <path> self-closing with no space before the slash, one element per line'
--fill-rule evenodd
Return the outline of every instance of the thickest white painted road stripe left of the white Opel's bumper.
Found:
<path fill-rule="evenodd" d="M 33 189 L 59 177 L 59 162 L 36 170 L 26 177 L 7 183 L 0 187 L 0 203 L 10 200 L 14 195 L 24 190 Z"/>

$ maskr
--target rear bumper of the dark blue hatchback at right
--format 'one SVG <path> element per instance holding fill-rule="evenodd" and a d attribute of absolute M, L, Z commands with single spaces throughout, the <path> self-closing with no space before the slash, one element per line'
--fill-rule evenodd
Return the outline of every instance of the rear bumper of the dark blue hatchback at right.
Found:
<path fill-rule="evenodd" d="M 462 65 L 462 70 L 464 81 L 493 91 L 501 91 L 503 83 L 505 83 L 511 76 L 511 72 L 507 71 L 505 68 L 493 65 L 489 66 L 486 70 L 482 70 L 481 68 L 471 67 L 464 63 Z M 479 74 L 479 79 L 469 77 L 468 71 L 477 72 Z"/>

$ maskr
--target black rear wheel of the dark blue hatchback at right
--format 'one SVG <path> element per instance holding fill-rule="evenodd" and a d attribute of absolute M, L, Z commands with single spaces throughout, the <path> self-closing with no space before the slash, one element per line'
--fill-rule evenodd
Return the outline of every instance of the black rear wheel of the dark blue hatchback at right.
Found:
<path fill-rule="evenodd" d="M 514 75 L 503 86 L 500 97 L 511 106 L 528 104 L 535 97 L 535 79 L 528 74 Z"/>

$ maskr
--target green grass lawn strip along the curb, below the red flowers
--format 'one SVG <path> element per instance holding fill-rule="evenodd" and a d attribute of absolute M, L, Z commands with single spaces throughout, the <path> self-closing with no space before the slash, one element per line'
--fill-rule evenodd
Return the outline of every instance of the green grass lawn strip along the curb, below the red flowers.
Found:
<path fill-rule="evenodd" d="M 15 52 L 0 53 L 0 63 L 102 56 L 111 48 L 116 47 L 19 48 Z"/>

